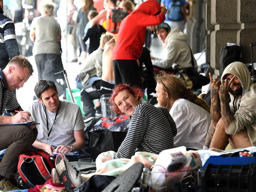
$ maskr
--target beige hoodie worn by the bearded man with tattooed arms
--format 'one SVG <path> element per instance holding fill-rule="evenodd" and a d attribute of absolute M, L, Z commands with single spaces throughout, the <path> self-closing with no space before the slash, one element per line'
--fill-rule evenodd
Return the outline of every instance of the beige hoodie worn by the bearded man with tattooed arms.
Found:
<path fill-rule="evenodd" d="M 241 62 L 234 62 L 228 65 L 221 76 L 224 79 L 226 74 L 236 76 L 243 87 L 242 98 L 230 94 L 230 110 L 235 120 L 230 124 L 226 133 L 234 135 L 246 127 L 252 146 L 256 146 L 256 85 L 252 83 L 250 72 Z"/>

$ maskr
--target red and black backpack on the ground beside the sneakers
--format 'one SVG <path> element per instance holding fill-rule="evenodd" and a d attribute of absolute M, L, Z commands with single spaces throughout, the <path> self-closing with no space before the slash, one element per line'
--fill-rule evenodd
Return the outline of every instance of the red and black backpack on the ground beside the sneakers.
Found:
<path fill-rule="evenodd" d="M 43 185 L 45 181 L 51 179 L 51 171 L 54 167 L 54 161 L 45 151 L 28 150 L 19 156 L 20 177 L 32 187 Z"/>

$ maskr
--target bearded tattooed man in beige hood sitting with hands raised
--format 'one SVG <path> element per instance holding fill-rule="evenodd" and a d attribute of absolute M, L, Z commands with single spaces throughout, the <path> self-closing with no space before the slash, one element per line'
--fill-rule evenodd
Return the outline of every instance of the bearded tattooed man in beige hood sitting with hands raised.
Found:
<path fill-rule="evenodd" d="M 228 65 L 211 80 L 211 126 L 204 148 L 233 149 L 256 145 L 256 86 L 241 62 Z M 228 97 L 231 102 L 228 104 Z"/>

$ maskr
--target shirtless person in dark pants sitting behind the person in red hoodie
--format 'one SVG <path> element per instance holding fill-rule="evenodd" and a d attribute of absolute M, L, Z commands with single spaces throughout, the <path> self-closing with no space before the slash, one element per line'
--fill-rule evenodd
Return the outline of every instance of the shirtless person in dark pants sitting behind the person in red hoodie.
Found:
<path fill-rule="evenodd" d="M 104 47 L 102 54 L 102 78 L 96 80 L 91 85 L 87 85 L 81 92 L 83 102 L 84 122 L 95 119 L 93 100 L 99 99 L 103 94 L 111 93 L 115 87 L 115 76 L 113 71 L 112 51 L 115 46 L 115 40 L 112 38 Z"/>

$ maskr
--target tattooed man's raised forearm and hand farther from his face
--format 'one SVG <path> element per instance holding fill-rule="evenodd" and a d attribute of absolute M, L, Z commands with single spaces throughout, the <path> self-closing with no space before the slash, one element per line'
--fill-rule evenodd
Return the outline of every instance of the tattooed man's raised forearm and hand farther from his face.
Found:
<path fill-rule="evenodd" d="M 221 118 L 221 107 L 219 103 L 219 86 L 221 81 L 215 79 L 213 81 L 211 73 L 209 73 L 211 81 L 211 120 L 214 126 L 217 125 L 219 119 Z"/>

